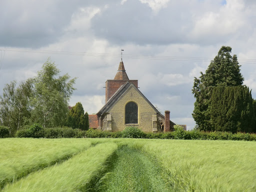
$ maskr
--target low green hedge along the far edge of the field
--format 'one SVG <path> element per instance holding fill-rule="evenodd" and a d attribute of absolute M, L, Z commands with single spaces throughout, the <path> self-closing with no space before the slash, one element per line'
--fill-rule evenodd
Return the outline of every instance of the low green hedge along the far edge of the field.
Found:
<path fill-rule="evenodd" d="M 8 131 L 5 135 L 2 133 L 4 127 L 0 126 L 0 137 L 7 137 Z M 5 127 L 7 128 L 7 127 Z M 183 130 L 183 127 L 175 126 L 173 132 L 142 132 L 137 127 L 126 127 L 123 131 L 108 132 L 100 130 L 81 130 L 71 127 L 54 127 L 42 128 L 38 125 L 32 125 L 27 129 L 18 130 L 16 137 L 32 137 L 32 138 L 158 138 L 158 139 L 197 139 L 197 140 L 247 140 L 256 141 L 256 134 L 254 133 L 231 133 L 223 131 L 199 131 L 199 130 Z"/>

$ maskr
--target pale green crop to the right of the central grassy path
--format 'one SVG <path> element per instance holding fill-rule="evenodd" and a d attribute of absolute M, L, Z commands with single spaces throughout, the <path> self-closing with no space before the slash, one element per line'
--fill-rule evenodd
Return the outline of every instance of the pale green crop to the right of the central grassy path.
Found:
<path fill-rule="evenodd" d="M 256 142 L 138 142 L 144 142 L 144 150 L 159 159 L 177 191 L 256 191 Z"/>

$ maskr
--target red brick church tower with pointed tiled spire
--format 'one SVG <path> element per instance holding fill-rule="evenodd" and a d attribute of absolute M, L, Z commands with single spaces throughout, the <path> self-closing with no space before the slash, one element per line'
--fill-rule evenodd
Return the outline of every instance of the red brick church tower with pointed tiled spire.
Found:
<path fill-rule="evenodd" d="M 111 96 L 116 92 L 116 90 L 121 85 L 125 84 L 127 81 L 132 82 L 138 88 L 138 80 L 129 80 L 129 78 L 125 72 L 123 62 L 121 60 L 114 79 L 106 80 L 105 102 L 107 102 L 109 100 L 109 98 L 111 98 Z"/>

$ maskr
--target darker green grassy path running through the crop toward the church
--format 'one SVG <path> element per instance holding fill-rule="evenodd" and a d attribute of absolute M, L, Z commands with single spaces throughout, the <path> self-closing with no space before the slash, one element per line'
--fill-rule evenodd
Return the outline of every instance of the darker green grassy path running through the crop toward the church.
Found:
<path fill-rule="evenodd" d="M 138 149 L 122 146 L 109 161 L 109 170 L 85 191 L 171 191 L 155 160 Z"/>

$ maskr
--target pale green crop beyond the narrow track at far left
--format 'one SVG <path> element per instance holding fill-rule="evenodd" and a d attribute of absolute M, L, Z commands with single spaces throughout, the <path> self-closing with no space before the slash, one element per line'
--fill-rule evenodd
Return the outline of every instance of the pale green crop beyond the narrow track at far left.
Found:
<path fill-rule="evenodd" d="M 0 139 L 0 188 L 88 148 L 92 139 Z M 68 144 L 67 144 L 68 143 Z"/>

